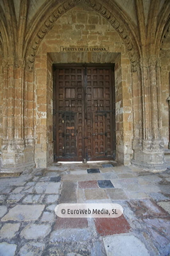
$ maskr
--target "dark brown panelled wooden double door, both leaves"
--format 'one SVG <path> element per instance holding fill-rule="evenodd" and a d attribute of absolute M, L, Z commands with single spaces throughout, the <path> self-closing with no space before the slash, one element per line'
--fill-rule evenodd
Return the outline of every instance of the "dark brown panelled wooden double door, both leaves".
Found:
<path fill-rule="evenodd" d="M 115 156 L 113 65 L 55 65 L 55 161 L 101 161 Z"/>

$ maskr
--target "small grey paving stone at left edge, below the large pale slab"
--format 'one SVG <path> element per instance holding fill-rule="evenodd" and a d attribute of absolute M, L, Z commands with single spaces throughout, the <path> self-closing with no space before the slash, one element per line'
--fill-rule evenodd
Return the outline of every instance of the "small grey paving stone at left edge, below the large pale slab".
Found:
<path fill-rule="evenodd" d="M 0 230 L 0 238 L 13 238 L 20 228 L 20 223 L 7 223 Z M 0 253 L 1 255 L 1 253 Z"/>

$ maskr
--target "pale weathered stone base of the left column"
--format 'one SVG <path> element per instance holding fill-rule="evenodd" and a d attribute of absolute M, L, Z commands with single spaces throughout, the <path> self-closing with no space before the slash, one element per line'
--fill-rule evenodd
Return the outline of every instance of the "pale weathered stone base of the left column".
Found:
<path fill-rule="evenodd" d="M 33 140 L 3 141 L 0 177 L 19 176 L 35 167 Z"/>

